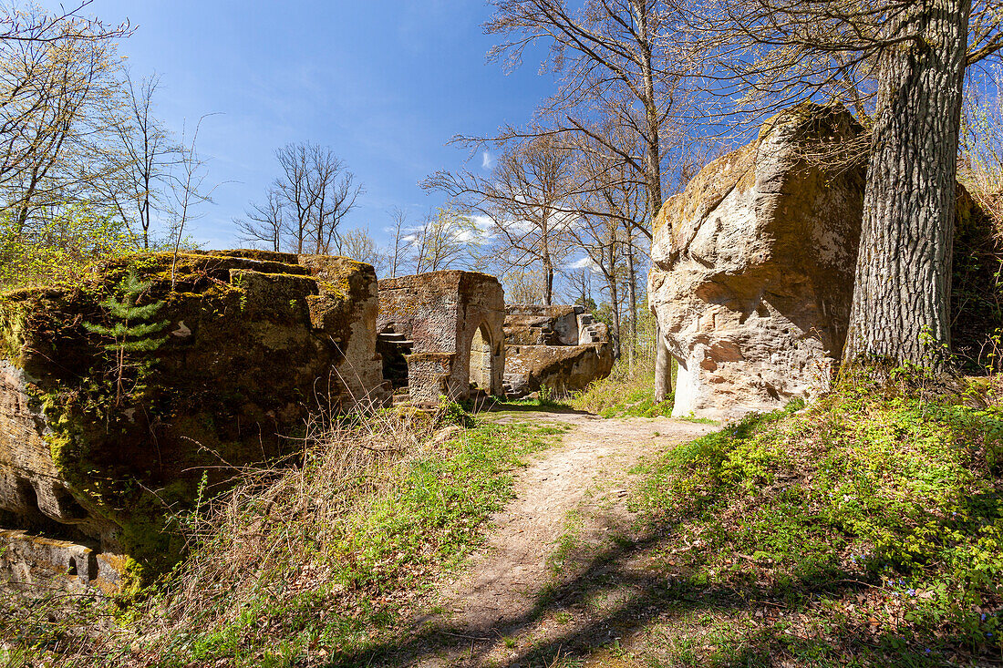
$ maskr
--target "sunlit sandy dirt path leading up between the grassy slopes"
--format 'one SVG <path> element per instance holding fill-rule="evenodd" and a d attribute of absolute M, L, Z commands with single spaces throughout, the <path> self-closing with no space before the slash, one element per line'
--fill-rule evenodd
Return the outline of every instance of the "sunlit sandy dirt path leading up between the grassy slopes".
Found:
<path fill-rule="evenodd" d="M 602 600 L 587 600 L 582 594 L 592 583 L 579 582 L 602 575 L 593 573 L 597 555 L 638 538 L 626 508 L 630 469 L 645 454 L 713 428 L 570 412 L 513 413 L 498 421 L 558 423 L 569 430 L 519 475 L 517 497 L 494 518 L 486 544 L 441 588 L 438 605 L 418 619 L 437 648 L 412 665 L 558 665 L 528 656 L 561 637 L 592 633 L 597 617 L 630 596 L 629 586 L 614 587 L 599 592 Z M 561 650 L 551 654 L 560 657 Z"/>

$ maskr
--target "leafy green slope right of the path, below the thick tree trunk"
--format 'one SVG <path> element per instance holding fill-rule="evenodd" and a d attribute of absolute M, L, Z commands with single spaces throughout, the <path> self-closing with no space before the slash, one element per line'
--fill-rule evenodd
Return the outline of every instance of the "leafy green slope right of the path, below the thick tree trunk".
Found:
<path fill-rule="evenodd" d="M 1003 661 L 1001 439 L 998 405 L 854 388 L 649 461 L 636 508 L 670 537 L 653 568 L 676 614 L 639 656 Z"/>

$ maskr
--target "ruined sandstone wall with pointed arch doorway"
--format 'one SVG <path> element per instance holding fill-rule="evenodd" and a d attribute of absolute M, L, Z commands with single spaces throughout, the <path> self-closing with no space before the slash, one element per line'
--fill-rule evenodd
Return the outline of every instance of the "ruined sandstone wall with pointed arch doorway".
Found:
<path fill-rule="evenodd" d="M 505 293 L 492 276 L 439 271 L 379 282 L 378 351 L 395 396 L 415 405 L 501 395 Z"/>

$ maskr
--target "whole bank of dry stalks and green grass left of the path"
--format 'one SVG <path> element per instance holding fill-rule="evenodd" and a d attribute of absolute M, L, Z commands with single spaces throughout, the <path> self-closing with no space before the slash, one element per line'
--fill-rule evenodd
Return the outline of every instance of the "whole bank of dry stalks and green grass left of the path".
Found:
<path fill-rule="evenodd" d="M 81 637 L 104 606 L 63 619 L 53 601 L 0 603 L 0 635 L 13 648 L 0 659 L 386 665 L 378 648 L 409 633 L 408 605 L 478 544 L 514 495 L 513 471 L 553 433 L 477 421 L 439 442 L 427 421 L 403 419 L 332 424 L 296 465 L 248 468 L 216 498 L 204 478 L 195 509 L 177 518 L 191 554 L 127 625 Z"/>

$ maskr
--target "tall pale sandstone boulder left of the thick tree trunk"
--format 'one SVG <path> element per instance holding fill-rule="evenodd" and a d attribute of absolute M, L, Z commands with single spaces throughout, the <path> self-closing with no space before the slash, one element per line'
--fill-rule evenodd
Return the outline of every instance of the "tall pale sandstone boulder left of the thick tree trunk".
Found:
<path fill-rule="evenodd" d="M 772 410 L 828 382 L 847 336 L 863 170 L 801 147 L 857 136 L 842 107 L 784 111 L 659 213 L 649 304 L 679 362 L 673 415 Z"/>

